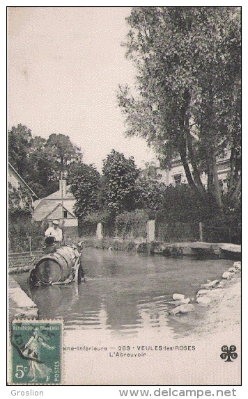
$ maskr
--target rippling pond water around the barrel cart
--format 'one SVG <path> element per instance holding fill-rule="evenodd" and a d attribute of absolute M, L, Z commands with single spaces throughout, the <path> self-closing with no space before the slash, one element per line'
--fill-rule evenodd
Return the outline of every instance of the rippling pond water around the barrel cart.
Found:
<path fill-rule="evenodd" d="M 86 248 L 86 283 L 30 288 L 28 273 L 13 275 L 36 302 L 39 318 L 63 318 L 65 329 L 108 329 L 138 334 L 140 329 L 187 332 L 206 308 L 187 317 L 168 316 L 173 293 L 195 297 L 207 279 L 220 279 L 233 261 L 166 258 L 160 255 Z M 200 308 L 200 307 L 199 307 Z"/>

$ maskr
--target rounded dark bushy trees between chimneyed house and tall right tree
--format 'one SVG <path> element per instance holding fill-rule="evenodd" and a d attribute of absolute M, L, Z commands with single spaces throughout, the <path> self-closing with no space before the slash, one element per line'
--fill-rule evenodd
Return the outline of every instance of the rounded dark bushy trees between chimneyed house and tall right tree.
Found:
<path fill-rule="evenodd" d="M 82 163 L 70 168 L 68 183 L 76 198 L 75 212 L 84 221 L 98 219 L 109 225 L 123 212 L 160 209 L 164 184 L 157 181 L 154 165 L 141 172 L 133 157 L 125 158 L 112 149 L 103 160 L 102 173 Z"/>

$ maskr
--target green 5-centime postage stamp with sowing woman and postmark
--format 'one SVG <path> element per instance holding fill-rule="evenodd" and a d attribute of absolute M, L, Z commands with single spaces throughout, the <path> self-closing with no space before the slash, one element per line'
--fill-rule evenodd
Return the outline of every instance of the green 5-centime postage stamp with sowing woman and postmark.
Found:
<path fill-rule="evenodd" d="M 12 384 L 62 384 L 62 321 L 14 320 L 10 329 Z"/>

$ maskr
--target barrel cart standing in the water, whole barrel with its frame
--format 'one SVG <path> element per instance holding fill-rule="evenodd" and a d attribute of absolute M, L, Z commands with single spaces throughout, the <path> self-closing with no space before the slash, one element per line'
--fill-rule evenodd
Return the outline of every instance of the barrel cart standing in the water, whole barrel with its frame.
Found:
<path fill-rule="evenodd" d="M 82 251 L 76 245 L 53 247 L 47 245 L 50 252 L 42 256 L 29 273 L 31 286 L 70 284 L 84 282 Z"/>

